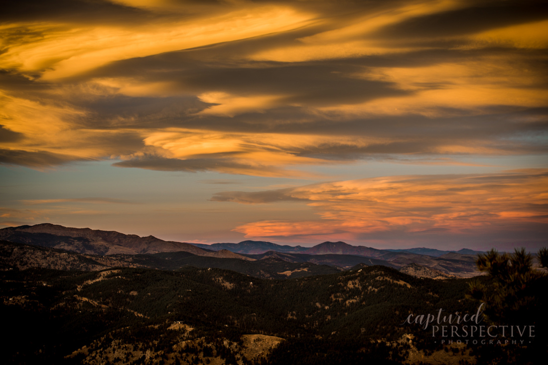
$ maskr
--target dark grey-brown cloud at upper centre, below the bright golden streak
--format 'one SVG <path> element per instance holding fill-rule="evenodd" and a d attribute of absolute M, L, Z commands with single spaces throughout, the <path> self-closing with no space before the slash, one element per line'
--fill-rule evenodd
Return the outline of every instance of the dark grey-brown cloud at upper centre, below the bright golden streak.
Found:
<path fill-rule="evenodd" d="M 254 62 L 238 67 L 222 61 L 208 63 L 169 53 L 113 62 L 88 75 L 114 77 L 135 75 L 147 69 L 147 81 L 169 81 L 178 84 L 181 92 L 201 94 L 226 92 L 238 95 L 285 95 L 282 103 L 320 106 L 356 104 L 387 96 L 406 95 L 395 83 L 357 78 L 366 71 L 350 62 Z"/>

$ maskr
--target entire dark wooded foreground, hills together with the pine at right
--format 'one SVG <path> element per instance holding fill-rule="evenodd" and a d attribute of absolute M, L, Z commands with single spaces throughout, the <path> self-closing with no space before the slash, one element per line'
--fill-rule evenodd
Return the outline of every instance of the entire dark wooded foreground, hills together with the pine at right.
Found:
<path fill-rule="evenodd" d="M 534 364 L 546 355 L 548 276 L 524 251 L 490 252 L 478 259 L 487 275 L 445 280 L 415 264 L 403 270 L 412 275 L 363 263 L 343 271 L 284 255 L 294 254 L 98 256 L 0 242 L 3 361 Z"/>

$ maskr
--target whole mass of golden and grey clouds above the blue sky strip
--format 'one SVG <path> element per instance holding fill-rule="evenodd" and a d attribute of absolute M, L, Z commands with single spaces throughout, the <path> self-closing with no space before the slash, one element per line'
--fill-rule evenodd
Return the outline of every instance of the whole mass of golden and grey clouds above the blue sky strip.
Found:
<path fill-rule="evenodd" d="M 0 163 L 258 176 L 545 155 L 539 1 L 8 2 Z"/>

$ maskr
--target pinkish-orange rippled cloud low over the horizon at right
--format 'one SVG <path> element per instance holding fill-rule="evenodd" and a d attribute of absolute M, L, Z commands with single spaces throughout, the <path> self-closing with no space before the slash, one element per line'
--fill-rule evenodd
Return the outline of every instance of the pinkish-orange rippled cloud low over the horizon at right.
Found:
<path fill-rule="evenodd" d="M 261 192 L 227 191 L 212 200 L 244 204 L 302 201 L 321 216 L 320 220 L 255 221 L 235 229 L 249 238 L 346 235 L 357 239 L 381 232 L 464 236 L 470 231 L 500 233 L 505 227 L 518 229 L 520 225 L 545 227 L 547 183 L 546 169 L 385 176 Z"/>

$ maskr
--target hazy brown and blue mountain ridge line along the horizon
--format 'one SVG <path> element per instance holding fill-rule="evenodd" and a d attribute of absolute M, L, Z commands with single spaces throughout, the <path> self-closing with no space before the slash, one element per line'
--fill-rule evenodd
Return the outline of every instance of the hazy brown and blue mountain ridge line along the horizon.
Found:
<path fill-rule="evenodd" d="M 154 236 L 140 237 L 116 231 L 72 228 L 49 223 L 0 229 L 0 239 L 88 255 L 106 256 L 113 254 L 138 255 L 186 252 L 202 256 L 204 259 L 186 259 L 185 263 L 181 261 L 181 265 L 186 265 L 188 262 L 199 263 L 197 265 L 212 265 L 214 259 L 236 260 L 231 261 L 232 264 L 228 264 L 228 261 L 222 264 L 220 262 L 215 264 L 224 268 L 232 267 L 236 271 L 249 270 L 249 265 L 244 264 L 244 261 L 260 261 L 270 257 L 299 265 L 303 263 L 328 265 L 337 270 L 347 270 L 361 263 L 366 265 L 384 265 L 395 269 L 401 269 L 409 264 L 418 264 L 448 275 L 459 277 L 478 275 L 475 263 L 476 257 L 473 255 L 449 252 L 435 257 L 410 252 L 394 252 L 366 246 L 352 246 L 342 241 L 327 241 L 310 248 L 305 248 L 301 246 L 281 246 L 266 241 L 248 240 L 240 243 L 208 245 L 207 247 L 210 249 L 206 249 L 204 247 L 206 245 L 200 245 L 204 247 L 201 248 L 197 244 L 163 241 Z M 265 249 L 268 250 L 264 252 Z M 469 251 L 465 250 L 463 252 L 467 253 Z"/>

